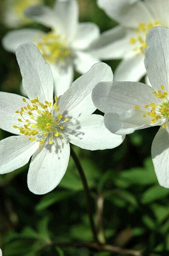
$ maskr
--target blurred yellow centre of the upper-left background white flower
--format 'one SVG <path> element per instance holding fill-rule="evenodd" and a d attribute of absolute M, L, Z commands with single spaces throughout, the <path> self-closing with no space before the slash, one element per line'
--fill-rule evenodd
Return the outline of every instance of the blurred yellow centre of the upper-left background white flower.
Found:
<path fill-rule="evenodd" d="M 40 34 L 40 39 L 37 47 L 42 52 L 46 61 L 52 64 L 60 63 L 61 65 L 65 65 L 70 61 L 71 53 L 65 40 L 54 33 L 54 31 L 46 35 Z"/>

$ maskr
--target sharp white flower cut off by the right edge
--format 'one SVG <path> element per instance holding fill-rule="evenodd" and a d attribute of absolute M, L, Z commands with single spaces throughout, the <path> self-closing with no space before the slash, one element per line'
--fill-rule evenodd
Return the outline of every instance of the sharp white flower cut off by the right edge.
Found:
<path fill-rule="evenodd" d="M 93 89 L 93 101 L 106 113 L 112 133 L 124 135 L 161 125 L 151 148 L 163 187 L 169 187 L 169 29 L 154 27 L 146 37 L 145 65 L 151 86 L 139 82 L 107 82 Z"/>

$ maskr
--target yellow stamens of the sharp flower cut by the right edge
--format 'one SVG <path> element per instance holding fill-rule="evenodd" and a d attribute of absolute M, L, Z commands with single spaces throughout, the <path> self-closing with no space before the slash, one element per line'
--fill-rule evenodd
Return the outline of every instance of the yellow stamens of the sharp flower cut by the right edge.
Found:
<path fill-rule="evenodd" d="M 143 117 L 146 118 L 146 116 L 150 116 L 151 123 L 156 123 L 156 121 L 160 119 L 167 119 L 166 122 L 168 122 L 169 119 L 169 100 L 167 97 L 168 91 L 164 90 L 163 85 L 161 85 L 161 89 L 162 90 L 153 91 L 153 95 L 161 99 L 161 104 L 157 105 L 155 103 L 149 103 L 144 106 L 144 108 L 148 108 L 149 111 L 143 114 Z M 139 110 L 141 107 L 135 105 L 135 108 Z M 166 126 L 167 123 L 164 123 L 164 125 L 162 125 L 162 128 L 165 129 Z"/>

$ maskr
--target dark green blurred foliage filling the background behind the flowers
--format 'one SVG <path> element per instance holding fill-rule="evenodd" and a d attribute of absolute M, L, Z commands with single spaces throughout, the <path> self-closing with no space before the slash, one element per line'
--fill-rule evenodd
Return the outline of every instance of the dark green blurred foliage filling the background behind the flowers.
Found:
<path fill-rule="evenodd" d="M 50 6 L 54 3 L 45 2 Z M 79 4 L 81 22 L 95 22 L 100 31 L 116 25 L 97 7 L 95 0 L 79 0 Z M 10 30 L 2 23 L 3 20 L 1 38 Z M 16 57 L 1 48 L 0 58 L 1 91 L 20 93 Z M 119 61 L 107 63 L 114 71 Z M 91 189 L 97 227 L 100 225 L 97 205 L 102 199 L 106 242 L 143 251 L 143 255 L 166 256 L 169 255 L 169 190 L 158 184 L 151 161 L 151 143 L 156 132 L 157 128 L 136 131 L 114 150 L 88 152 L 76 147 L 74 150 Z M 6 136 L 10 134 L 0 131 L 1 139 Z M 59 242 L 92 241 L 84 190 L 72 158 L 61 183 L 47 195 L 29 191 L 28 167 L 29 164 L 0 176 L 0 247 L 4 255 L 112 255 L 95 249 L 57 246 Z"/>

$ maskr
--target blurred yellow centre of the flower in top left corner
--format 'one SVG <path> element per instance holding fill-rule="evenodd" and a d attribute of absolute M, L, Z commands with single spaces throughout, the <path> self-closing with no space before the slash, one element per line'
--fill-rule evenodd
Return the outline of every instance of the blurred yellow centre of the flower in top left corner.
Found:
<path fill-rule="evenodd" d="M 42 4 L 42 0 L 15 0 L 14 10 L 16 14 L 20 16 L 20 18 L 22 18 L 22 20 L 30 21 L 28 18 L 25 18 L 25 16 L 23 15 L 23 10 L 29 7 L 30 5 L 37 5 L 40 3 Z"/>

